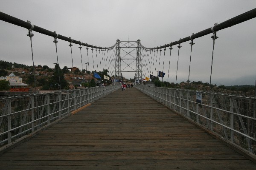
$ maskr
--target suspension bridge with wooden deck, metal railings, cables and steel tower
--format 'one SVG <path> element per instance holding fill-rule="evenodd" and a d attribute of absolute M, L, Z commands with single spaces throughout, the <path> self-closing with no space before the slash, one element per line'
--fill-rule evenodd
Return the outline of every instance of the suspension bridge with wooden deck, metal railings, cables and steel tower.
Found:
<path fill-rule="evenodd" d="M 111 47 L 89 45 L 0 12 L 1 20 L 28 29 L 32 60 L 35 31 L 54 38 L 58 65 L 60 39 L 69 42 L 72 62 L 72 43 L 79 45 L 81 65 L 85 46 L 86 62 L 93 61 L 89 67 L 108 68 L 114 75 L 110 86 L 62 90 L 59 78 L 57 92 L 0 99 L 1 169 L 256 169 L 255 97 L 140 83 L 148 75 L 163 78 L 164 62 L 170 62 L 166 58 L 178 45 L 176 84 L 183 42 L 190 41 L 191 62 L 193 40 L 212 34 L 213 61 L 217 31 L 255 17 L 253 9 L 147 48 L 141 40 L 116 40 Z M 125 71 L 135 73 L 135 86 L 121 91 L 118 81 Z M 210 85 L 211 78 L 212 69 Z"/>

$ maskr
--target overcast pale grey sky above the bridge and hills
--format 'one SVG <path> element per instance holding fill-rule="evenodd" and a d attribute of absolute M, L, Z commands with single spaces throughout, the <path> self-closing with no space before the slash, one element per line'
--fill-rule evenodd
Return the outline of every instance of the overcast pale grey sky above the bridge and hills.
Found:
<path fill-rule="evenodd" d="M 168 44 L 253 8 L 256 8 L 255 0 L 0 0 L 0 11 L 3 13 L 24 21 L 29 20 L 36 26 L 56 31 L 74 40 L 101 47 L 110 47 L 117 39 L 127 41 L 128 36 L 130 41 L 140 39 L 141 44 L 148 48 Z M 212 84 L 255 85 L 255 30 L 256 18 L 217 32 L 219 38 L 215 41 Z M 35 65 L 53 68 L 53 63 L 57 62 L 53 37 L 35 31 L 33 33 Z M 26 34 L 27 29 L 0 20 L 0 59 L 32 65 L 30 40 Z M 191 81 L 210 80 L 211 36 L 209 34 L 194 40 Z M 69 42 L 58 41 L 60 67 L 71 67 Z M 189 42 L 184 42 L 181 46 L 177 82 L 186 81 L 189 74 Z M 73 44 L 73 64 L 81 69 L 78 47 L 79 45 Z M 91 64 L 92 53 L 89 52 Z M 178 48 L 175 46 L 169 69 L 169 48 L 166 51 L 164 81 L 167 81 L 169 71 L 169 82 L 175 82 L 177 53 Z M 83 47 L 83 68 L 87 62 L 86 57 L 86 49 Z M 160 70 L 163 69 L 162 57 L 163 52 Z M 90 70 L 92 67 L 90 65 Z M 148 74 L 147 72 L 144 74 Z M 134 73 L 126 72 L 123 76 L 134 78 Z"/>

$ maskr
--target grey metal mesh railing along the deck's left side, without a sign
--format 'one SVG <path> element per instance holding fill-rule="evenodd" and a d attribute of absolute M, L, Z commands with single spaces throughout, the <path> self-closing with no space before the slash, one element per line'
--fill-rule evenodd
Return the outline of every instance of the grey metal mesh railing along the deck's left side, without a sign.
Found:
<path fill-rule="evenodd" d="M 0 99 L 0 147 L 117 90 L 119 85 Z"/>

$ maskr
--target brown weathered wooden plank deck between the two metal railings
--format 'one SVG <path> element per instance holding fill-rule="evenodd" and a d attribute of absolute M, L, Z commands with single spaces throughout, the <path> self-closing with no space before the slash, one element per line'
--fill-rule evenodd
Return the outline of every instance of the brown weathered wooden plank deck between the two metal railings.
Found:
<path fill-rule="evenodd" d="M 0 170 L 256 170 L 135 88 L 115 91 L 0 156 Z"/>

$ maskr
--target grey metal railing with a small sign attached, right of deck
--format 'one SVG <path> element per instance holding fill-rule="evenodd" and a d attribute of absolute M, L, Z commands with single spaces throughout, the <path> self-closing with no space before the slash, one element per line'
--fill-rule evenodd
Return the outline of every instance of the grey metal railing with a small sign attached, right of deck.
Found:
<path fill-rule="evenodd" d="M 256 153 L 256 98 L 144 85 L 136 88 L 223 139 Z M 196 101 L 197 94 L 201 103 Z"/>

